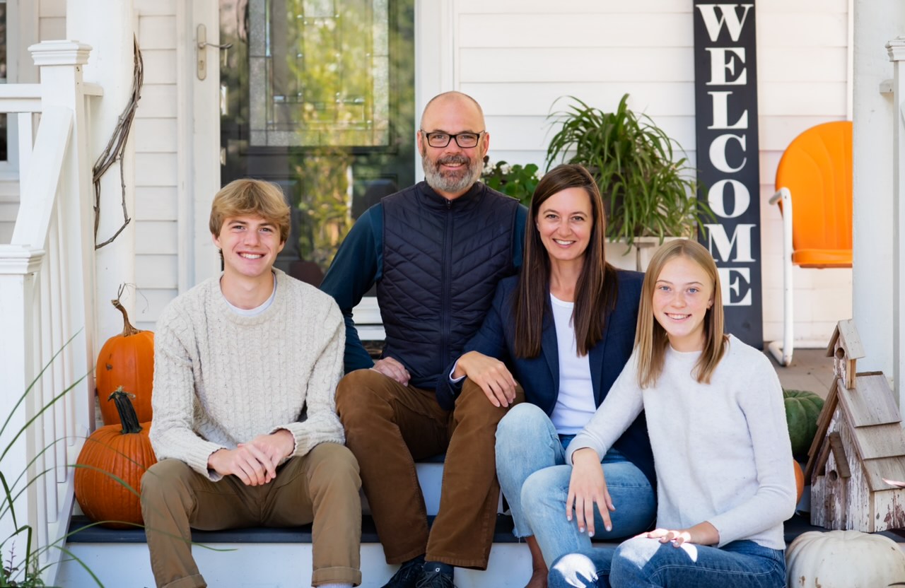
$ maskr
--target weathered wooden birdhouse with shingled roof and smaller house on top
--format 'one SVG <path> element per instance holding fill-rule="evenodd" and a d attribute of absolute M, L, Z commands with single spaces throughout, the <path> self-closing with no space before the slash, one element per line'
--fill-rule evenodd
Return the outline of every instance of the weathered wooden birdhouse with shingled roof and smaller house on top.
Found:
<path fill-rule="evenodd" d="M 817 419 L 805 479 L 811 524 L 866 533 L 905 527 L 905 432 L 882 372 L 855 372 L 863 357 L 853 321 L 840 321 L 827 355 L 835 377 Z M 902 482 L 905 486 L 905 481 Z"/>

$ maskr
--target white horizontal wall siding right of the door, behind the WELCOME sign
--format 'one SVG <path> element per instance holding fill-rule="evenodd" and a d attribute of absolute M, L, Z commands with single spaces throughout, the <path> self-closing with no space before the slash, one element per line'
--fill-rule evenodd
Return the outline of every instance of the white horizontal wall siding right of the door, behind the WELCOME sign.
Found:
<path fill-rule="evenodd" d="M 846 0 L 757 2 L 758 141 L 764 335 L 782 332 L 782 221 L 766 200 L 788 143 L 806 128 L 845 119 L 849 105 Z M 691 3 L 457 0 L 454 87 L 484 108 L 491 161 L 542 169 L 551 111 L 576 96 L 614 109 L 624 93 L 685 148 L 693 165 Z M 431 68 L 425 65 L 424 68 Z M 828 338 L 851 317 L 851 270 L 796 270 L 796 337 Z"/>

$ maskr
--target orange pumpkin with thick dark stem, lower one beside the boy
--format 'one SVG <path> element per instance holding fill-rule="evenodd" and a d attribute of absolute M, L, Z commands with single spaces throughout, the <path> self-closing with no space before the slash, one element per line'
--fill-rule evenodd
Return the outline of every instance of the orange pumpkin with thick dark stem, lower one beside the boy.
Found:
<path fill-rule="evenodd" d="M 76 460 L 75 498 L 87 517 L 110 528 L 141 524 L 141 476 L 157 463 L 148 439 L 151 423 L 138 423 L 129 395 L 121 386 L 110 394 L 120 424 L 91 433 Z"/>

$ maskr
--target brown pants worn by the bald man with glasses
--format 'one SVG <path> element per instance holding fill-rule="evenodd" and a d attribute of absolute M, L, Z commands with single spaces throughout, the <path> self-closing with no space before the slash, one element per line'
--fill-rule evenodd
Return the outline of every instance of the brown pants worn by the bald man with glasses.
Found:
<path fill-rule="evenodd" d="M 519 387 L 516 403 L 523 400 Z M 433 390 L 375 370 L 339 381 L 337 412 L 388 564 L 424 554 L 428 561 L 487 569 L 500 500 L 494 444 L 508 410 L 493 406 L 467 379 L 452 411 L 440 407 Z M 414 461 L 443 451 L 440 512 L 428 536 Z"/>

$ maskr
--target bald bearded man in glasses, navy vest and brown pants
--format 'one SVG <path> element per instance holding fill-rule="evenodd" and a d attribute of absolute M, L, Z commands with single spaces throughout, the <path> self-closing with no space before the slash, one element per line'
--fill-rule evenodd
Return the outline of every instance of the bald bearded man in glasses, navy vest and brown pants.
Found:
<path fill-rule="evenodd" d="M 385 588 L 451 588 L 455 566 L 487 569 L 500 485 L 494 440 L 505 406 L 467 381 L 437 401 L 443 373 L 491 308 L 497 282 L 521 265 L 527 210 L 478 182 L 490 135 L 461 92 L 424 108 L 417 147 L 424 181 L 362 214 L 321 289 L 346 318 L 347 375 L 337 410 L 388 564 Z M 383 356 L 361 345 L 352 308 L 376 285 Z M 445 451 L 440 512 L 428 531 L 414 461 Z"/>

